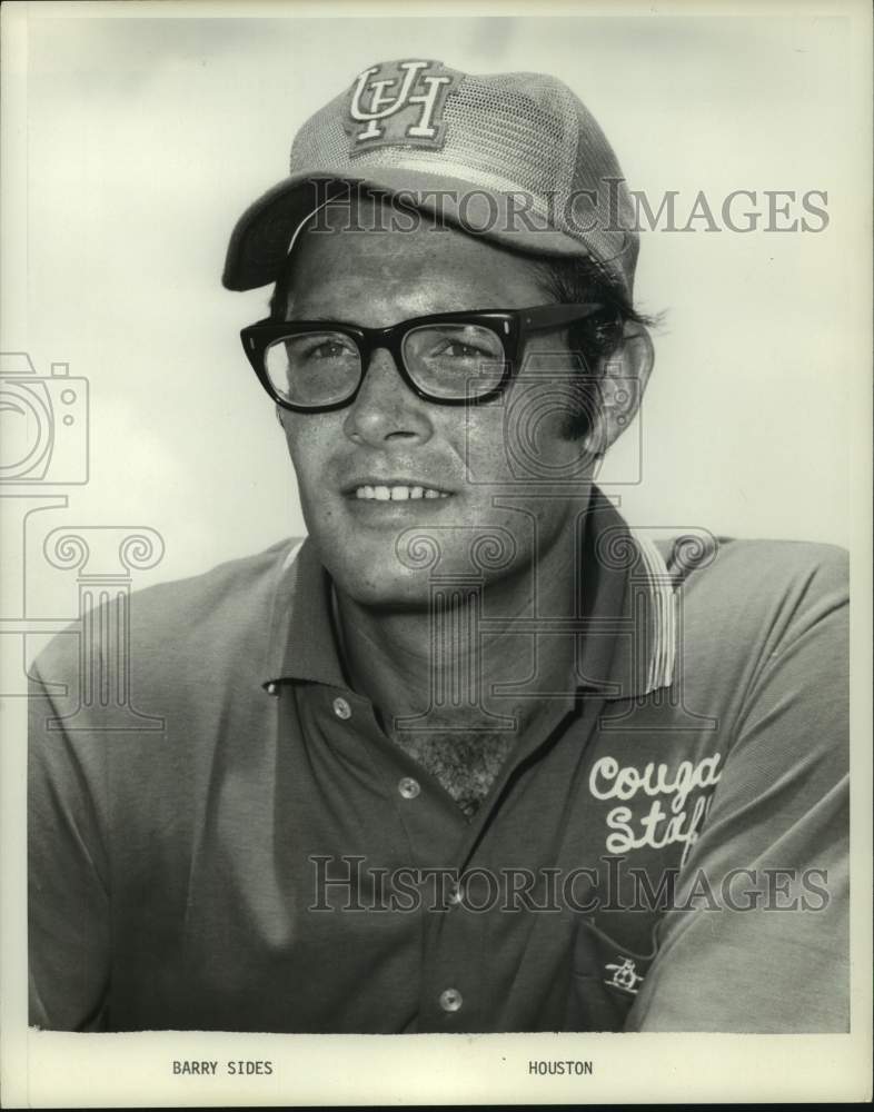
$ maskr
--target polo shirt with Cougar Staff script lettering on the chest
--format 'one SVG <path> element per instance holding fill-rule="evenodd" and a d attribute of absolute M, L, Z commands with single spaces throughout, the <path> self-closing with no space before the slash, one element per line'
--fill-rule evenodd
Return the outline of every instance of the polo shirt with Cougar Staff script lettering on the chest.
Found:
<path fill-rule="evenodd" d="M 579 614 L 533 617 L 507 685 L 534 711 L 471 818 L 349 687 L 310 542 L 59 635 L 32 667 L 31 1022 L 847 1030 L 846 557 L 693 549 L 596 499 Z M 101 697 L 99 623 L 142 728 Z M 578 647 L 560 691 L 530 679 L 543 636 Z"/>

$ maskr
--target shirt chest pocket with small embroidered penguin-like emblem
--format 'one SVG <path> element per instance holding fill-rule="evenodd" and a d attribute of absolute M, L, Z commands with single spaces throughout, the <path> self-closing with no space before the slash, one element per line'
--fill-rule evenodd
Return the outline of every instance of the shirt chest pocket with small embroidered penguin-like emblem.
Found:
<path fill-rule="evenodd" d="M 567 1031 L 622 1031 L 649 972 L 658 945 L 656 927 L 647 953 L 630 950 L 587 919 L 574 939 Z"/>

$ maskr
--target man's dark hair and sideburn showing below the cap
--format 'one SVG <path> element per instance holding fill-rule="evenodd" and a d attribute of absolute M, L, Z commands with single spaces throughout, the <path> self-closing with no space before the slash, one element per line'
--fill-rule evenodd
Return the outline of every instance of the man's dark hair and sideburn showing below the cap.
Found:
<path fill-rule="evenodd" d="M 634 308 L 625 287 L 596 259 L 586 256 L 530 256 L 513 251 L 504 245 L 494 246 L 524 259 L 534 269 L 549 301 L 600 306 L 592 317 L 567 329 L 567 346 L 576 359 L 578 378 L 565 435 L 570 438 L 585 436 L 600 405 L 599 381 L 608 361 L 622 349 L 625 326 L 634 322 L 648 327 L 654 324 L 653 318 Z M 286 318 L 294 271 L 292 254 L 270 297 L 271 320 Z M 524 370 L 524 367 L 518 369 Z"/>

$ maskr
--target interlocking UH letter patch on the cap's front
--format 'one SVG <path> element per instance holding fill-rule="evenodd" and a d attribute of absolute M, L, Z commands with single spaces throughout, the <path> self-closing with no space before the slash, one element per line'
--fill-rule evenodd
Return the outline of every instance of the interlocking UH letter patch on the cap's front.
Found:
<path fill-rule="evenodd" d="M 381 62 L 364 70 L 352 85 L 344 122 L 351 137 L 349 156 L 390 146 L 440 150 L 446 100 L 461 77 L 436 61 Z"/>

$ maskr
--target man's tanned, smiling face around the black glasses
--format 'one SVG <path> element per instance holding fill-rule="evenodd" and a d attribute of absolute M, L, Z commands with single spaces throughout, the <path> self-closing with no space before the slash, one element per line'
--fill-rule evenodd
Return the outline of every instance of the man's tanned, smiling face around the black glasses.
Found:
<path fill-rule="evenodd" d="M 295 250 L 289 320 L 379 328 L 434 312 L 549 300 L 530 264 L 479 237 L 428 224 L 414 231 L 344 230 L 342 210 L 328 222 L 330 232 L 304 235 Z M 544 480 L 567 468 L 580 479 L 584 453 L 564 435 L 560 383 L 566 371 L 569 404 L 573 371 L 562 334 L 532 338 L 523 366 L 528 373 L 545 366 L 549 377 L 523 375 L 476 407 L 441 406 L 416 397 L 389 353 L 378 349 L 347 408 L 280 410 L 307 528 L 340 590 L 362 605 L 424 606 L 435 570 L 481 572 L 487 583 L 509 584 L 529 577 L 533 563 L 556 546 L 583 488 L 573 498 L 544 498 Z M 364 487 L 441 496 L 379 500 L 360 497 Z M 428 542 L 416 545 L 411 530 Z M 489 535 L 497 548 L 477 549 L 477 538 Z M 439 554 L 436 567 L 429 554 Z"/>

